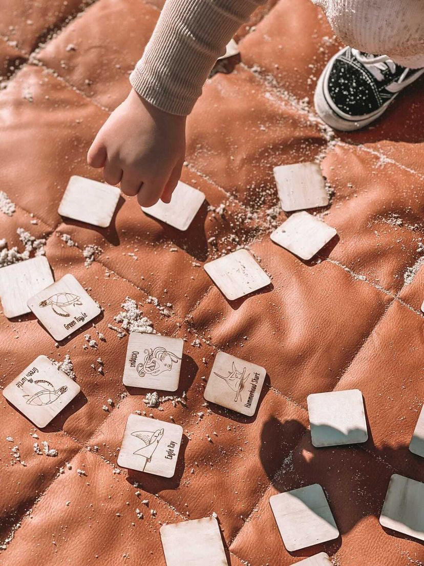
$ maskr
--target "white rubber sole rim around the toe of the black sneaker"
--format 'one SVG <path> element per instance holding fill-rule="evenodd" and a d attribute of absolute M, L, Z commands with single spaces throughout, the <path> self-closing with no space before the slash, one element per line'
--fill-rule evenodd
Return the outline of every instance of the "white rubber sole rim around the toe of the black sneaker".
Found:
<path fill-rule="evenodd" d="M 352 132 L 355 130 L 361 130 L 361 128 L 365 128 L 371 122 L 374 122 L 379 118 L 384 112 L 386 112 L 388 106 L 390 106 L 391 102 L 395 100 L 396 96 L 393 96 L 390 101 L 386 102 L 377 112 L 374 112 L 371 116 L 367 116 L 361 120 L 349 120 L 347 118 L 343 118 L 340 115 L 336 114 L 334 110 L 331 108 L 330 104 L 327 102 L 327 98 L 325 96 L 325 79 L 328 74 L 328 70 L 330 70 L 332 66 L 332 62 L 339 56 L 339 53 L 336 53 L 330 61 L 327 63 L 326 68 L 321 73 L 321 76 L 318 79 L 317 88 L 315 88 L 314 94 L 314 106 L 317 114 L 322 119 L 323 122 L 334 128 L 334 130 L 339 130 L 342 132 Z"/>

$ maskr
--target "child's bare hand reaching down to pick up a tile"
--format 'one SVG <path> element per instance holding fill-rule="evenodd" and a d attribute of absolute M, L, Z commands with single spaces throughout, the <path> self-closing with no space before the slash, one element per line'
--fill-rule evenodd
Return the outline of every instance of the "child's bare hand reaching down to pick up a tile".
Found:
<path fill-rule="evenodd" d="M 144 207 L 170 202 L 185 155 L 185 116 L 168 114 L 134 89 L 98 132 L 87 162 Z"/>

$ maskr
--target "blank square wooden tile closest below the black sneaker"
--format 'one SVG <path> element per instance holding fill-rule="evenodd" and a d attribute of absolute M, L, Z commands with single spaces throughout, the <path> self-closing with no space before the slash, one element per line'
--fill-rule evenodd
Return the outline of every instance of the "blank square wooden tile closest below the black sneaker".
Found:
<path fill-rule="evenodd" d="M 278 196 L 285 212 L 325 207 L 328 194 L 317 163 L 296 163 L 274 167 Z"/>

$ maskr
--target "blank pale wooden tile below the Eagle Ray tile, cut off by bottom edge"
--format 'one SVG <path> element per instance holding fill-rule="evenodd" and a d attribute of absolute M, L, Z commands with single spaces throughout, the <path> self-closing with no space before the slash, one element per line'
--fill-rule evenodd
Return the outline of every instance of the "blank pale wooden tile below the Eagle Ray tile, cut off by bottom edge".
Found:
<path fill-rule="evenodd" d="M 160 532 L 166 566 L 228 566 L 214 517 L 163 525 Z"/>

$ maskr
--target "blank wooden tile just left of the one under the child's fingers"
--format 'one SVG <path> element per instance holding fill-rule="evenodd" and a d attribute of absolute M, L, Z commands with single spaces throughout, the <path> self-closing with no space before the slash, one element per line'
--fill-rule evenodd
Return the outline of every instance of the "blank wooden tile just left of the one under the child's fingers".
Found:
<path fill-rule="evenodd" d="M 60 216 L 107 228 L 115 213 L 119 196 L 118 187 L 72 175 L 58 212 Z"/>

